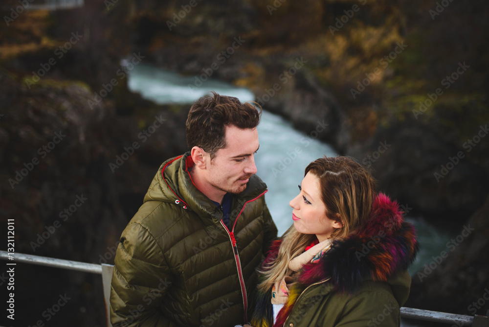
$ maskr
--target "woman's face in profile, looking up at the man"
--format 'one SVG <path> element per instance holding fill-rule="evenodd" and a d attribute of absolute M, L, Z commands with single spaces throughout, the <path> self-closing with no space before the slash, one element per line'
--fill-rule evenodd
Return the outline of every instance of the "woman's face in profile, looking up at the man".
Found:
<path fill-rule="evenodd" d="M 326 215 L 326 206 L 321 200 L 319 178 L 308 172 L 302 180 L 299 194 L 289 202 L 292 207 L 292 219 L 297 232 L 315 234 L 319 242 L 331 236 L 331 233 L 343 225 Z"/>

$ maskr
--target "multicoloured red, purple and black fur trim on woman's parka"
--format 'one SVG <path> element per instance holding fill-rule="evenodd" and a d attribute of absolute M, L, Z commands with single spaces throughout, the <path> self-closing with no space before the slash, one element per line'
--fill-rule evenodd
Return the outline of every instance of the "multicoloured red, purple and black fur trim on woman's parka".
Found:
<path fill-rule="evenodd" d="M 404 222 L 402 213 L 396 201 L 379 193 L 365 226 L 347 238 L 333 241 L 317 263 L 308 263 L 301 269 L 275 326 L 283 325 L 297 297 L 315 282 L 329 279 L 336 292 L 355 294 L 363 280 L 386 281 L 406 270 L 416 257 L 419 244 L 414 227 Z M 281 242 L 273 242 L 264 264 L 277 257 Z M 260 292 L 252 326 L 272 325 L 270 298 L 271 292 Z"/>

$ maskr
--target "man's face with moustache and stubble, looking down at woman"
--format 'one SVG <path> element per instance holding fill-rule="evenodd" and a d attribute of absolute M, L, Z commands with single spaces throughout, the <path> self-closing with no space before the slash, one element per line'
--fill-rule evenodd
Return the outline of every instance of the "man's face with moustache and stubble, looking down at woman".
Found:
<path fill-rule="evenodd" d="M 258 131 L 226 126 L 226 147 L 210 161 L 207 181 L 223 192 L 241 193 L 248 179 L 256 174 L 254 154 L 258 150 Z"/>

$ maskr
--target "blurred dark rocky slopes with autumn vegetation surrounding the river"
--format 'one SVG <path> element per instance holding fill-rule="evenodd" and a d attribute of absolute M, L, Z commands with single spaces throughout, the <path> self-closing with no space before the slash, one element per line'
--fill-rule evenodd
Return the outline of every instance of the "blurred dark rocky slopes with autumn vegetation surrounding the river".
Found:
<path fill-rule="evenodd" d="M 31 8 L 23 8 L 27 2 Z M 2 230 L 16 219 L 17 252 L 99 263 L 159 164 L 187 150 L 189 106 L 158 105 L 130 92 L 128 79 L 116 75 L 121 62 L 139 53 L 146 65 L 187 76 L 218 63 L 213 79 L 246 87 L 257 100 L 279 83 L 264 109 L 304 132 L 326 121 L 319 138 L 340 154 L 362 161 L 380 142 L 390 144 L 372 167 L 379 189 L 407 203 L 410 214 L 455 234 L 467 224 L 476 227 L 436 271 L 422 282 L 413 279 L 406 304 L 473 314 L 467 307 L 489 286 L 484 1 L 75 0 L 71 9 L 35 9 L 44 2 L 0 4 L 0 219 Z M 217 55 L 236 39 L 242 45 L 220 62 Z M 45 66 L 52 58 L 55 64 Z M 304 67 L 284 83 L 281 74 L 298 58 Z M 459 64 L 467 70 L 452 75 Z M 49 70 L 36 81 L 42 65 Z M 457 79 L 444 84 L 447 76 Z M 88 100 L 113 78 L 119 83 L 92 108 Z M 420 114 L 420 101 L 438 88 L 443 94 Z M 155 115 L 167 119 L 165 128 L 113 174 L 109 163 L 130 144 L 128 135 L 147 128 Z M 60 130 L 66 141 L 12 186 L 9 179 Z M 480 141 L 467 151 L 464 143 L 477 135 Z M 459 151 L 464 158 L 437 180 L 434 174 Z M 90 205 L 34 249 L 30 242 L 80 194 Z M 18 267 L 22 316 L 16 326 L 34 324 L 45 304 L 65 292 L 72 305 L 49 326 L 103 326 L 99 276 Z M 0 324 L 11 322 L 2 317 Z"/>

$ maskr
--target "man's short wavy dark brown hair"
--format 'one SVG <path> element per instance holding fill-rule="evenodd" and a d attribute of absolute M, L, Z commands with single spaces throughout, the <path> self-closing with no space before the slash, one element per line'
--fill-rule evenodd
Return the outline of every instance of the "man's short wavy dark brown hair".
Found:
<path fill-rule="evenodd" d="M 190 107 L 185 123 L 188 148 L 199 146 L 214 159 L 217 150 L 226 146 L 226 126 L 255 128 L 261 114 L 261 108 L 257 109 L 249 102 L 242 103 L 234 96 L 215 92 L 202 96 Z"/>

